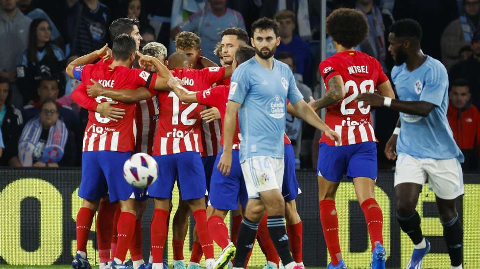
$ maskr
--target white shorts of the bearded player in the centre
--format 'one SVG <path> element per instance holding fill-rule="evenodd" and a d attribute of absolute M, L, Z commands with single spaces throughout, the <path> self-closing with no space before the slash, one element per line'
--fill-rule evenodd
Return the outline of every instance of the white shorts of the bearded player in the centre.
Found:
<path fill-rule="evenodd" d="M 279 189 L 282 191 L 283 158 L 255 156 L 240 163 L 248 199 L 258 198 L 259 192 Z"/>

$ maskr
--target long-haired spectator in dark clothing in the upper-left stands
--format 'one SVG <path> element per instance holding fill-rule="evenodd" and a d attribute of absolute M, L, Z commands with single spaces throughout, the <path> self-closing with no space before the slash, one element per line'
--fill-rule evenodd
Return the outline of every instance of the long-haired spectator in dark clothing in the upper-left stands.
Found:
<path fill-rule="evenodd" d="M 65 69 L 65 55 L 50 41 L 51 28 L 45 19 L 35 19 L 29 27 L 28 47 L 20 56 L 17 66 L 17 84 L 24 104 L 37 98 L 32 85 L 37 85 L 42 75 L 60 73 Z"/>

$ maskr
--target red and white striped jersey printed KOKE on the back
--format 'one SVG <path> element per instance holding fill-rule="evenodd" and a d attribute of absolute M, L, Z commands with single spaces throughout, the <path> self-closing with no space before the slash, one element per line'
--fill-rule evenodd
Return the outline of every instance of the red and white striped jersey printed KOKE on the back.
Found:
<path fill-rule="evenodd" d="M 139 69 L 117 66 L 113 69 L 107 65 L 86 65 L 81 69 L 82 84 L 91 85 L 90 79 L 98 81 L 103 87 L 113 89 L 132 89 L 146 87 L 152 89 L 157 79 L 151 74 Z M 98 96 L 98 103 L 112 99 Z M 102 117 L 100 113 L 89 111 L 88 123 L 83 137 L 83 151 L 134 151 L 135 150 L 135 104 L 119 102 L 114 107 L 125 110 L 125 115 L 118 122 Z"/>

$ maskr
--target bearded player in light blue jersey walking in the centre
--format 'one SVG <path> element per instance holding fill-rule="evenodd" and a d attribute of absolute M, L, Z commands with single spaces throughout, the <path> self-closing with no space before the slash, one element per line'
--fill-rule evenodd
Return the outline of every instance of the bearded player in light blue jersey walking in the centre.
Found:
<path fill-rule="evenodd" d="M 267 226 L 275 248 L 286 269 L 300 269 L 289 249 L 285 229 L 285 202 L 279 187 L 284 173 L 285 113 L 287 99 L 298 115 L 331 139 L 340 137 L 330 129 L 303 100 L 288 65 L 273 59 L 280 44 L 278 22 L 261 18 L 252 24 L 255 57 L 234 71 L 230 84 L 223 129 L 223 152 L 218 170 L 230 173 L 232 141 L 236 114 L 239 112 L 240 166 L 249 201 L 240 226 L 234 268 L 243 268 L 253 246 L 260 220 L 268 214 Z"/>

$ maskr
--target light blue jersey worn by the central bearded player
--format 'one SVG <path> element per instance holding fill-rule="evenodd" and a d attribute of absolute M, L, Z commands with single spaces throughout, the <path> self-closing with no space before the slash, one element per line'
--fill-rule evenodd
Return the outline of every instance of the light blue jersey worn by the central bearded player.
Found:
<path fill-rule="evenodd" d="M 287 99 L 303 99 L 288 65 L 274 59 L 267 70 L 252 58 L 235 69 L 228 100 L 241 104 L 240 163 L 254 156 L 284 157 Z"/>

